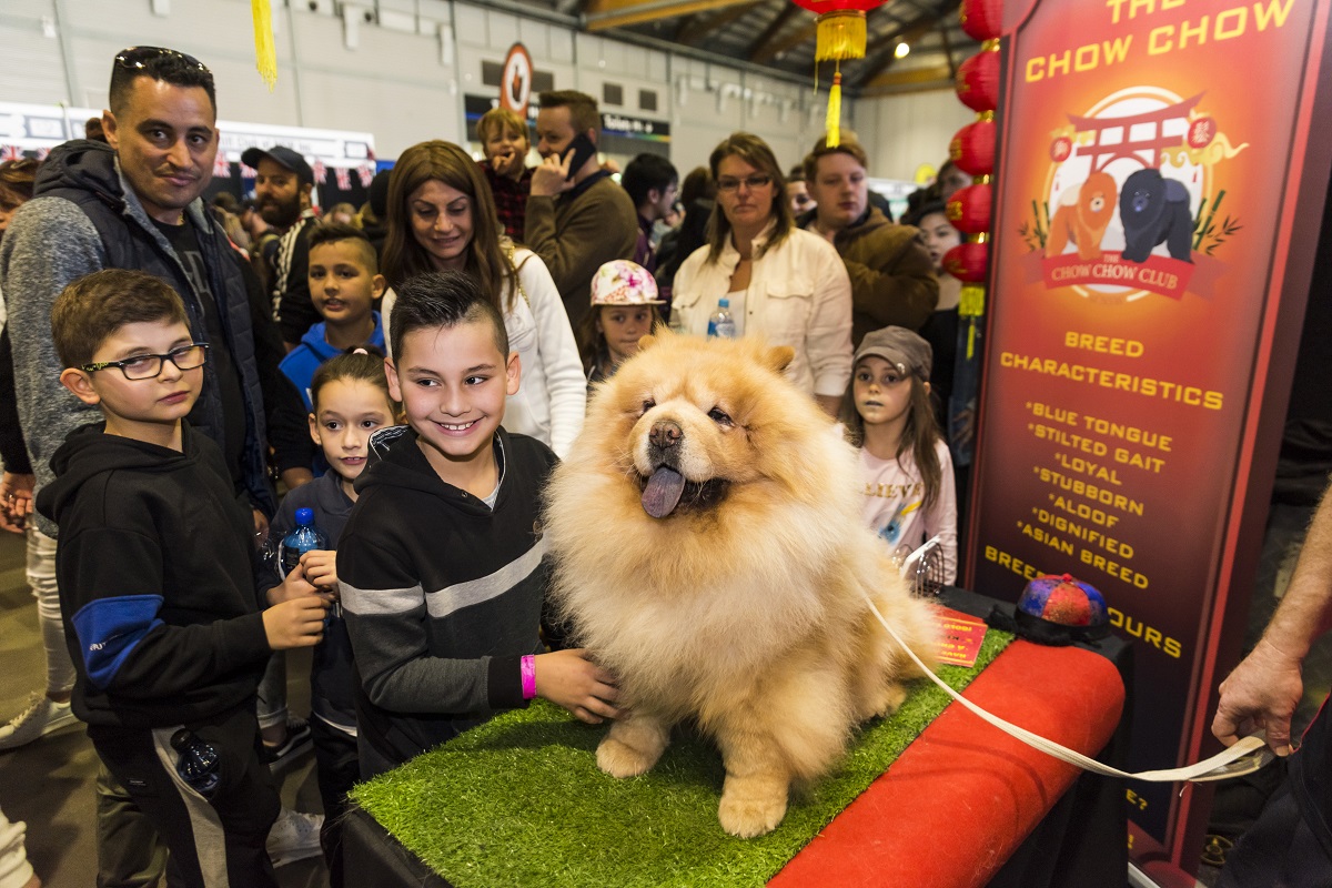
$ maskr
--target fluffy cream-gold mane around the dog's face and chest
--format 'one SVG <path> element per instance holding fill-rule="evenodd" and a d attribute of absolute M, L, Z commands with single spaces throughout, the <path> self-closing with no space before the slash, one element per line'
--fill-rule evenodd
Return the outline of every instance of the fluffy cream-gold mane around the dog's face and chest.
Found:
<path fill-rule="evenodd" d="M 705 663 L 718 682 L 727 671 L 762 671 L 793 636 L 854 648 L 863 630 L 847 614 L 863 616 L 862 590 L 894 575 L 856 521 L 855 451 L 781 374 L 789 359 L 789 349 L 758 341 L 658 335 L 595 393 L 554 473 L 545 526 L 555 598 L 577 639 L 621 676 L 630 704 L 670 699 L 681 671 Z M 662 411 L 713 407 L 733 419 L 729 437 L 743 435 L 726 455 L 721 501 L 649 517 L 635 427 Z"/>

